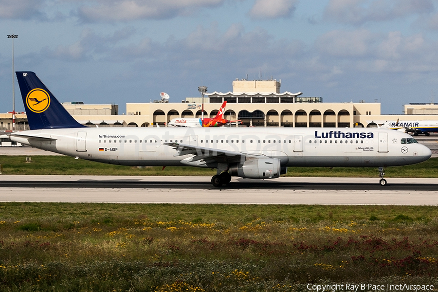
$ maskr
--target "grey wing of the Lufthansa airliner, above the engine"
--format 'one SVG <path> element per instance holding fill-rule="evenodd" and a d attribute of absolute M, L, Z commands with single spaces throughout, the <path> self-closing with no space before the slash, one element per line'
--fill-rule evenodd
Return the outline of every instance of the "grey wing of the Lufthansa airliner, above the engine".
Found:
<path fill-rule="evenodd" d="M 190 163 L 204 161 L 214 161 L 218 163 L 233 163 L 244 162 L 249 157 L 260 157 L 262 154 L 245 154 L 239 151 L 220 150 L 216 148 L 208 148 L 202 146 L 187 145 L 181 143 L 164 143 L 164 145 L 171 146 L 178 150 L 176 156 L 182 156 L 187 154 L 195 155 L 190 159 Z"/>

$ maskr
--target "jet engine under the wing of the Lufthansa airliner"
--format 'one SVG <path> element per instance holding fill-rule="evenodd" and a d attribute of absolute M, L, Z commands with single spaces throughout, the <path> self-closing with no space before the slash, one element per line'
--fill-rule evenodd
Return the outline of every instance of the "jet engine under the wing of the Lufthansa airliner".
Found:
<path fill-rule="evenodd" d="M 248 159 L 243 164 L 231 164 L 228 168 L 232 176 L 248 179 L 274 179 L 282 173 L 281 163 L 276 158 Z"/>

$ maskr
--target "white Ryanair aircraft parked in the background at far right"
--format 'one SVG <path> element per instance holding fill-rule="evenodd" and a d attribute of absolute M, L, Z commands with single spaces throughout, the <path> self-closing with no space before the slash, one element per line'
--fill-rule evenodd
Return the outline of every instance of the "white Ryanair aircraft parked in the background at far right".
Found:
<path fill-rule="evenodd" d="M 414 136 L 419 134 L 430 135 L 430 132 L 438 132 L 438 120 L 424 121 L 389 121 L 382 124 L 380 128 L 399 130 L 406 133 L 413 133 Z"/>

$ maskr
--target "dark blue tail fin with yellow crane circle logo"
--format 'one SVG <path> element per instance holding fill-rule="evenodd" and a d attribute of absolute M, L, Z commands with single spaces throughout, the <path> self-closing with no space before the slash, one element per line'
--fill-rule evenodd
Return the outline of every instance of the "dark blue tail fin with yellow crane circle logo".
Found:
<path fill-rule="evenodd" d="M 29 128 L 84 128 L 33 72 L 16 72 Z"/>

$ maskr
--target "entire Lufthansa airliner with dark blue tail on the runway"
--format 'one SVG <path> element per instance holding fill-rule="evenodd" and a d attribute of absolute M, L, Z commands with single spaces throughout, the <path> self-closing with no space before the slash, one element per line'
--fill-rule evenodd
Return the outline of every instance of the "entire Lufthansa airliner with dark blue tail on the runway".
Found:
<path fill-rule="evenodd" d="M 216 168 L 214 186 L 232 176 L 278 178 L 288 166 L 379 167 L 385 185 L 383 167 L 431 157 L 410 135 L 380 128 L 88 128 L 35 73 L 17 78 L 31 130 L 11 140 L 107 164 Z"/>

